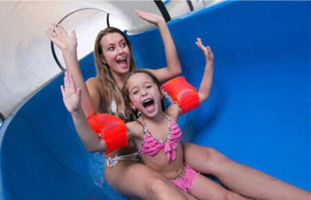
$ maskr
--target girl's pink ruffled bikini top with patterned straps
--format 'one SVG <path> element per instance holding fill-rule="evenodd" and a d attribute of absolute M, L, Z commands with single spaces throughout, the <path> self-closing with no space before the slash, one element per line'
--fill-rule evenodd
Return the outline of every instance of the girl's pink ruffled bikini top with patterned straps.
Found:
<path fill-rule="evenodd" d="M 152 134 L 144 123 L 144 137 L 142 138 L 142 146 L 140 147 L 140 153 L 144 155 L 154 156 L 164 148 L 165 154 L 167 154 L 167 162 L 175 161 L 176 158 L 176 147 L 180 141 L 182 131 L 175 122 L 171 122 L 165 115 L 169 122 L 169 136 L 167 141 L 164 142 Z M 142 118 L 143 122 L 144 119 Z"/>

